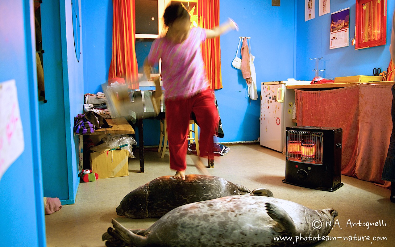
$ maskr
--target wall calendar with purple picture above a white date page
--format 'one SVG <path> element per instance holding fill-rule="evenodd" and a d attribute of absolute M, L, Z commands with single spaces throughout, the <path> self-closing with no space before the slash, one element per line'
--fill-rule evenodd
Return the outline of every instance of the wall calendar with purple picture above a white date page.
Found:
<path fill-rule="evenodd" d="M 350 8 L 331 13 L 329 49 L 348 46 L 350 37 Z"/>

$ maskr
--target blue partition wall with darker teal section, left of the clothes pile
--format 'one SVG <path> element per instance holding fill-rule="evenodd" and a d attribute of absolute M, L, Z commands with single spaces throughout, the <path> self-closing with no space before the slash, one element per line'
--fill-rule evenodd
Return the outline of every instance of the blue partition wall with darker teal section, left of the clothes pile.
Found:
<path fill-rule="evenodd" d="M 83 55 L 79 62 L 75 57 L 71 1 L 41 4 L 41 29 L 48 100 L 40 102 L 44 196 L 72 204 L 79 185 L 78 141 L 73 125 L 74 116 L 82 113 L 84 83 Z"/>

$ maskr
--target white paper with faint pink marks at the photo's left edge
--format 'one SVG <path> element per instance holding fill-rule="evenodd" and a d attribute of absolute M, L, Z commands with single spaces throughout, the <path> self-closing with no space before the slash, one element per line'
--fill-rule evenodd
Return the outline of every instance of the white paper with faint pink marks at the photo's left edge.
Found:
<path fill-rule="evenodd" d="M 0 83 L 0 179 L 24 150 L 15 80 Z"/>

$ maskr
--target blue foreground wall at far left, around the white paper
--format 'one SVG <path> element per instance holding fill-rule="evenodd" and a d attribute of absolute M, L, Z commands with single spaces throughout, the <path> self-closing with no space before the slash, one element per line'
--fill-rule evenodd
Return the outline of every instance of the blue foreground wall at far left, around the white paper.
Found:
<path fill-rule="evenodd" d="M 24 136 L 22 155 L 0 180 L 0 238 L 5 247 L 46 246 L 32 4 L 0 2 L 0 82 L 16 81 Z"/>

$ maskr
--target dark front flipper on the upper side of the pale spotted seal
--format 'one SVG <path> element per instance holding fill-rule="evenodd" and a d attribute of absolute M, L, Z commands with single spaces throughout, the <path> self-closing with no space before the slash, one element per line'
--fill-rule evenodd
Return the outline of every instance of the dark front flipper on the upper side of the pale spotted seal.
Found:
<path fill-rule="evenodd" d="M 277 222 L 273 225 L 273 230 L 276 232 L 295 232 L 295 223 L 282 207 L 269 202 L 265 203 L 265 207 L 267 214 Z"/>

